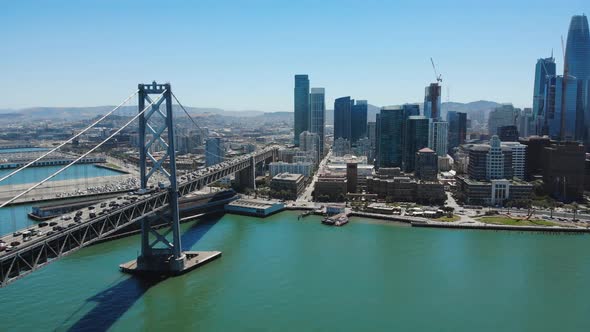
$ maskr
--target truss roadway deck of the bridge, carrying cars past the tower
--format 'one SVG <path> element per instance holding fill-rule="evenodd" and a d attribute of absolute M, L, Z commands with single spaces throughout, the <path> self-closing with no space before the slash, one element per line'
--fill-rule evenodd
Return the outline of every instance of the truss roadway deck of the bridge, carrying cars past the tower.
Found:
<path fill-rule="evenodd" d="M 179 196 L 197 191 L 230 174 L 254 167 L 256 164 L 274 159 L 278 146 L 273 145 L 260 151 L 238 157 L 207 169 L 179 177 Z M 254 174 L 254 172 L 252 172 Z M 33 226 L 0 238 L 10 246 L 0 251 L 0 287 L 5 286 L 59 258 L 101 240 L 118 230 L 141 220 L 144 217 L 159 216 L 168 208 L 168 190 L 154 190 L 144 195 L 127 194 L 109 199 L 108 204 L 97 204 L 92 210 L 77 212 L 47 220 L 45 227 Z M 105 201 L 106 202 L 106 201 Z M 76 213 L 80 220 L 75 221 Z M 55 223 L 55 224 L 53 224 Z M 24 242 L 25 231 L 41 231 L 41 234 L 28 237 Z M 21 233 L 21 234 L 19 234 Z"/>

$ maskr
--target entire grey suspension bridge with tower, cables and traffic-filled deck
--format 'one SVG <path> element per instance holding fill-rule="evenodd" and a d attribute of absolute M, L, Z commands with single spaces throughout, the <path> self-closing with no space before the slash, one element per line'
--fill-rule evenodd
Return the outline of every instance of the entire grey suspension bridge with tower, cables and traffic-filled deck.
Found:
<path fill-rule="evenodd" d="M 139 84 L 137 91 L 122 104 L 101 116 L 70 139 L 0 178 L 0 182 L 31 167 L 43 158 L 58 151 L 61 147 L 71 143 L 91 128 L 97 126 L 102 120 L 113 114 L 135 96 L 138 96 L 138 113 L 123 126 L 71 163 L 63 166 L 42 181 L 35 183 L 20 194 L 4 201 L 0 204 L 0 209 L 50 181 L 134 123 L 138 123 L 139 130 L 139 180 L 141 183 L 139 190 L 121 195 L 115 200 L 110 199 L 111 202 L 108 207 L 106 204 L 100 204 L 100 206 L 93 208 L 92 211 L 79 210 L 73 221 L 64 220 L 64 218 L 60 217 L 48 220 L 49 225 L 54 225 L 52 227 L 53 231 L 42 236 L 31 237 L 27 242 L 22 241 L 23 233 L 26 234 L 26 232 L 36 228 L 35 226 L 0 238 L 2 242 L 7 244 L 19 243 L 13 246 L 10 251 L 0 252 L 0 286 L 5 286 L 65 255 L 103 240 L 133 223 L 140 223 L 141 225 L 141 254 L 137 257 L 137 260 L 120 266 L 124 272 L 177 275 L 202 264 L 203 257 L 212 257 L 211 252 L 183 252 L 181 250 L 179 197 L 198 191 L 231 174 L 235 174 L 240 188 L 255 188 L 255 169 L 257 165 L 276 160 L 279 147 L 270 145 L 253 153 L 226 159 L 217 165 L 177 177 L 174 117 L 172 113 L 173 98 L 195 125 L 196 122 L 172 93 L 170 84 L 158 84 L 156 82 Z M 165 148 L 165 153 L 160 157 L 155 157 L 150 152 L 150 147 L 155 142 L 159 142 Z M 151 167 L 148 167 L 148 163 L 151 164 Z M 161 186 L 148 186 L 149 179 L 156 173 L 162 174 L 167 182 Z M 164 221 L 167 227 L 164 229 L 154 227 L 156 221 Z M 214 253 L 217 254 L 218 252 Z"/>

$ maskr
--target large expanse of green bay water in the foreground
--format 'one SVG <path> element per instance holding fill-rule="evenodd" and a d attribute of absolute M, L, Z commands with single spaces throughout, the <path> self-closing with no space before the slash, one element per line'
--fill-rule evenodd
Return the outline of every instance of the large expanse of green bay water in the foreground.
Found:
<path fill-rule="evenodd" d="M 585 235 L 416 229 L 296 213 L 183 225 L 223 256 L 157 284 L 117 270 L 139 237 L 0 289 L 2 331 L 589 331 Z"/>

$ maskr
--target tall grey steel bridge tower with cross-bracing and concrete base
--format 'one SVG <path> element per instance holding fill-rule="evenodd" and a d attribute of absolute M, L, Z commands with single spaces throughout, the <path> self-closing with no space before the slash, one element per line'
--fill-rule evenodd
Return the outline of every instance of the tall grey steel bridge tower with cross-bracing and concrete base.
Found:
<path fill-rule="evenodd" d="M 198 252 L 183 252 L 180 239 L 180 218 L 178 207 L 178 183 L 176 179 L 176 151 L 174 142 L 174 122 L 172 114 L 172 91 L 169 83 L 138 85 L 138 108 L 142 112 L 146 102 L 151 108 L 139 117 L 139 195 L 149 195 L 148 180 L 157 172 L 163 174 L 169 183 L 159 183 L 156 190 L 167 190 L 167 210 L 157 214 L 157 219 L 163 220 L 170 226 L 171 239 L 152 226 L 155 219 L 144 217 L 141 220 L 141 254 L 136 261 L 121 265 L 123 272 L 141 275 L 178 275 L 200 265 L 201 258 L 206 254 Z M 151 95 L 162 95 L 155 102 Z M 162 111 L 162 108 L 164 109 Z M 152 121 L 150 121 L 152 120 Z M 164 137 L 167 139 L 164 140 Z M 154 156 L 150 150 L 158 144 L 164 147 L 165 153 L 161 158 Z M 151 169 L 148 169 L 148 160 Z M 164 167 L 167 164 L 168 167 Z M 153 190 L 153 189 L 152 189 Z M 156 219 L 156 220 L 157 220 Z M 221 254 L 220 252 L 214 252 Z M 211 252 L 207 252 L 211 254 Z M 206 257 L 203 257 L 206 258 Z M 206 259 L 210 259 L 206 258 Z"/>

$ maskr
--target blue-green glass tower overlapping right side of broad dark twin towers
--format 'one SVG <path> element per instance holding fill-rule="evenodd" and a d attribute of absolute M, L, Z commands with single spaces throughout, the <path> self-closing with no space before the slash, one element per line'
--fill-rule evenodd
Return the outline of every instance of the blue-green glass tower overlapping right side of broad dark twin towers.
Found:
<path fill-rule="evenodd" d="M 406 120 L 402 160 L 404 172 L 414 171 L 416 152 L 428 146 L 429 121 L 430 119 L 420 115 L 410 116 Z"/>

